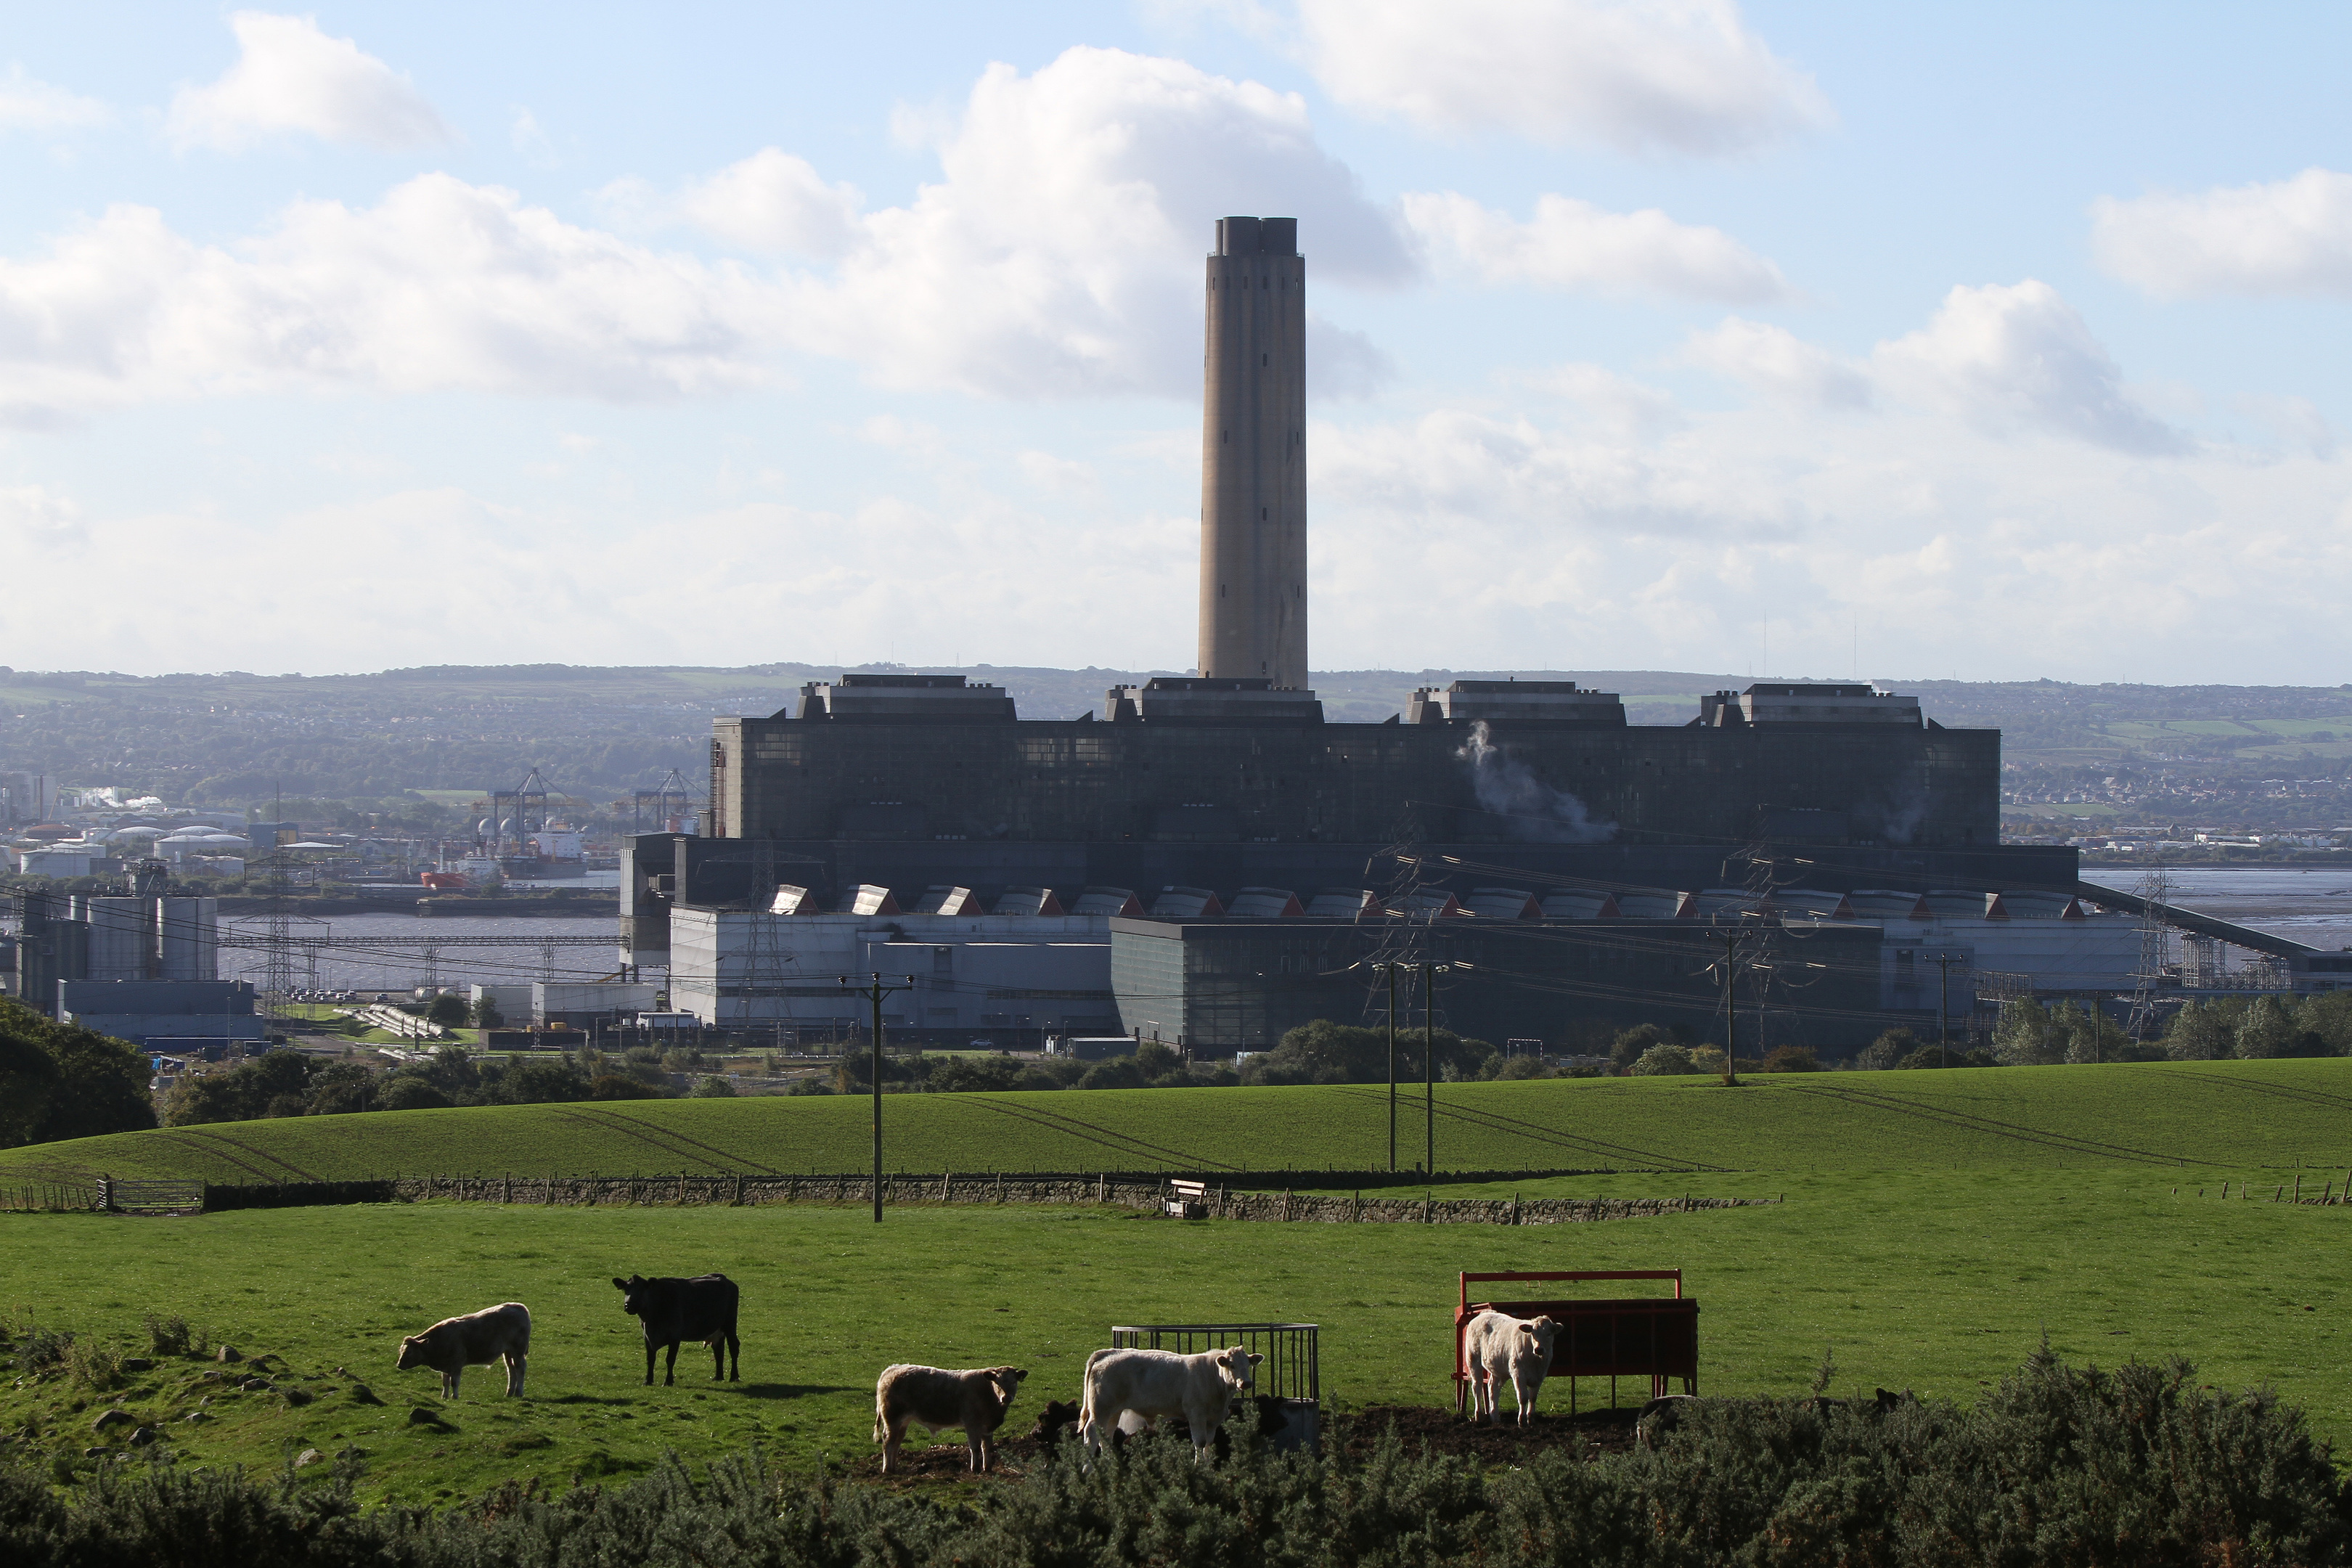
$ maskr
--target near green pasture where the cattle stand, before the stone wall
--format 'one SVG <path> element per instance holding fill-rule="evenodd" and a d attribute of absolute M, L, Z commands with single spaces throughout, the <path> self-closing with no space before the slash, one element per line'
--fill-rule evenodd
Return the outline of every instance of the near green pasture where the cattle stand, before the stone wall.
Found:
<path fill-rule="evenodd" d="M 2049 1331 L 2074 1361 L 2187 1354 L 2206 1382 L 2272 1382 L 2321 1434 L 2352 1436 L 2352 1211 L 2171 1187 L 2169 1173 L 2112 1168 L 1792 1175 L 1783 1206 L 1522 1229 L 1185 1225 L 1096 1208 L 898 1208 L 877 1227 L 856 1206 L 0 1215 L 0 1272 L 19 1326 L 35 1316 L 129 1345 L 141 1312 L 181 1312 L 310 1378 L 315 1403 L 285 1408 L 193 1382 L 198 1363 L 136 1375 L 127 1408 L 183 1460 L 273 1469 L 350 1446 L 369 1495 L 419 1502 L 753 1441 L 793 1465 L 863 1460 L 873 1378 L 898 1359 L 1030 1368 L 1025 1429 L 1047 1399 L 1077 1396 L 1084 1354 L 1115 1321 L 1317 1321 L 1329 1399 L 1444 1403 L 1465 1267 L 1686 1269 L 1705 1392 L 1795 1394 L 1835 1349 L 1839 1389 L 1966 1399 Z M 640 1387 L 635 1321 L 609 1284 L 633 1269 L 741 1281 L 741 1385 L 708 1385 L 689 1347 L 675 1389 Z M 499 1300 L 532 1307 L 529 1396 L 503 1399 L 477 1368 L 445 1425 L 412 1427 L 409 1408 L 440 1399 L 433 1375 L 393 1371 L 397 1338 Z M 355 1403 L 339 1366 L 388 1403 Z M 207 1389 L 209 1420 L 176 1420 Z M 1566 1389 L 1545 1399 L 1564 1408 Z M 54 1382 L 0 1385 L 0 1427 L 42 1432 L 42 1448 L 80 1453 L 94 1410 L 71 1408 Z"/>

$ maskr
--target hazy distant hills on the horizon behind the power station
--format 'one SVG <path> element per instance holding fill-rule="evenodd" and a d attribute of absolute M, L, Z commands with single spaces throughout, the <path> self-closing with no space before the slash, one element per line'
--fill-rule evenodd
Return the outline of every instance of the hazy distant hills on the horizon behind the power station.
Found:
<path fill-rule="evenodd" d="M 858 665 L 894 670 L 901 665 Z M 931 668 L 931 665 L 924 665 Z M 388 799 L 407 790 L 508 788 L 532 766 L 588 797 L 654 788 L 677 769 L 699 790 L 713 715 L 767 715 L 837 665 L 430 665 L 376 675 L 108 675 L 0 668 L 0 773 L 120 785 L 174 804 L 273 795 Z M 974 665 L 1021 712 L 1068 719 L 1103 691 L 1171 670 Z M 1698 696 L 1750 677 L 1696 670 L 1324 670 L 1324 712 L 1381 722 L 1414 686 L 1576 679 L 1625 696 L 1635 724 L 1682 724 Z M 1820 677 L 1839 679 L 1839 677 Z M 2277 773 L 2352 764 L 2352 686 L 2079 686 L 1879 677 L 1952 726 L 2004 731 L 2025 797 L 2114 795 L 2117 809 L 2246 816 Z M 2126 783 L 2110 783 L 2124 769 Z M 2239 811 L 2239 816 L 2230 816 Z M 2312 802 L 2317 816 L 2340 813 Z"/>

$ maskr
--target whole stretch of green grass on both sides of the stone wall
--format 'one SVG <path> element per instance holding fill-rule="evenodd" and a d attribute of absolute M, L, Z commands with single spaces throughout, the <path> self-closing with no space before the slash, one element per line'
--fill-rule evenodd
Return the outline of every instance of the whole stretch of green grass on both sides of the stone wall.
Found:
<path fill-rule="evenodd" d="M 1369 1143 L 1385 1143 L 1378 1091 L 990 1098 L 1011 1110 L 889 1098 L 908 1150 L 894 1164 L 1134 1166 L 1150 1140 L 1185 1154 L 1169 1164 L 1207 1171 L 1204 1157 L 1265 1166 L 1284 1150 L 1362 1166 Z M 1014 1420 L 1025 1429 L 1047 1399 L 1077 1396 L 1084 1354 L 1124 1321 L 1315 1321 L 1329 1399 L 1446 1403 L 1454 1274 L 1512 1267 L 1682 1267 L 1703 1305 L 1705 1392 L 1795 1394 L 1832 1349 L 1839 1389 L 1966 1399 L 2049 1333 L 2077 1363 L 2183 1354 L 2206 1382 L 2274 1385 L 2321 1436 L 2352 1439 L 2340 1328 L 2352 1208 L 2270 1201 L 2298 1175 L 2307 1190 L 2343 1180 L 2328 1161 L 2352 1159 L 2352 1063 L 1788 1074 L 1740 1091 L 1470 1084 L 1444 1088 L 1442 1105 L 1444 1166 L 1609 1164 L 1597 1150 L 1656 1166 L 1458 1194 L 1785 1201 L 1569 1227 L 1174 1222 L 1091 1206 L 896 1206 L 877 1227 L 856 1204 L 19 1213 L 0 1215 L 0 1319 L 19 1338 L 33 1321 L 143 1349 L 141 1314 L 183 1314 L 247 1354 L 282 1356 L 313 1403 L 200 1385 L 209 1363 L 181 1361 L 134 1375 L 127 1408 L 188 1462 L 273 1469 L 306 1448 L 358 1448 L 369 1497 L 416 1502 L 506 1476 L 626 1476 L 666 1450 L 701 1460 L 753 1441 L 795 1467 L 868 1465 L 873 1378 L 898 1359 L 1028 1366 Z M 0 1182 L 94 1164 L 235 1175 L 230 1161 L 287 1175 L 856 1168 L 866 1110 L 814 1098 L 287 1119 L 16 1150 Z M 1411 1150 L 1414 1117 L 1404 1133 Z M 640 1387 L 635 1324 L 609 1276 L 703 1269 L 743 1286 L 746 1380 L 708 1385 L 689 1349 L 680 1387 Z M 477 1368 L 440 1425 L 412 1427 L 412 1406 L 440 1401 L 430 1375 L 393 1371 L 397 1338 L 501 1300 L 534 1314 L 529 1396 L 503 1399 Z M 358 1380 L 386 1403 L 360 1403 Z M 0 1382 L 0 1434 L 80 1455 L 96 1441 L 92 1399 L 54 1378 Z M 1545 1389 L 1548 1408 L 1564 1401 L 1564 1387 Z M 193 1408 L 207 1420 L 179 1420 Z"/>

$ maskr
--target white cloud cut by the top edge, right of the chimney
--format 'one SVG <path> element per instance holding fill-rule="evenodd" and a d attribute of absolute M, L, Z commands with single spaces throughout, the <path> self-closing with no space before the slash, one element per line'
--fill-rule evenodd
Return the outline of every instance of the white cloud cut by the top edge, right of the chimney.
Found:
<path fill-rule="evenodd" d="M 1301 0 L 1341 103 L 1435 132 L 1738 153 L 1825 125 L 1813 78 L 1731 0 Z"/>

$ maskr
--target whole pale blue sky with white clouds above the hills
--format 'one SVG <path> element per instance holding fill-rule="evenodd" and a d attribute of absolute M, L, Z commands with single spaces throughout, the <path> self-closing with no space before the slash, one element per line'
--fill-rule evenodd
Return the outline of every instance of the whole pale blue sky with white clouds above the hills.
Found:
<path fill-rule="evenodd" d="M 2331 5 L 5 0 L 0 663 L 2352 679 Z"/>

